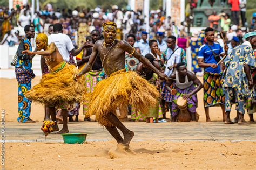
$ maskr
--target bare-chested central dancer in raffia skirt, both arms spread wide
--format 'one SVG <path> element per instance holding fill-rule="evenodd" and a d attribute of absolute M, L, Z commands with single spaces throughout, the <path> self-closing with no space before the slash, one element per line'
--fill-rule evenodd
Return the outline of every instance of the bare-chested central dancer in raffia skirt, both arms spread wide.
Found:
<path fill-rule="evenodd" d="M 167 76 L 159 72 L 149 60 L 140 55 L 130 44 L 116 40 L 116 29 L 117 25 L 114 22 L 103 24 L 104 40 L 95 43 L 89 62 L 82 72 L 76 75 L 75 79 L 91 70 L 93 62 L 99 54 L 108 77 L 98 82 L 95 90 L 89 95 L 87 115 L 95 114 L 99 124 L 104 125 L 118 143 L 129 146 L 134 133 L 119 121 L 117 116 L 113 114 L 114 110 L 117 107 L 131 104 L 142 112 L 147 112 L 151 105 L 156 105 L 156 98 L 159 93 L 153 85 L 149 84 L 136 72 L 126 72 L 125 52 L 129 52 L 144 65 L 151 68 L 161 79 L 167 79 Z M 123 132 L 124 139 L 120 136 L 117 128 Z"/>

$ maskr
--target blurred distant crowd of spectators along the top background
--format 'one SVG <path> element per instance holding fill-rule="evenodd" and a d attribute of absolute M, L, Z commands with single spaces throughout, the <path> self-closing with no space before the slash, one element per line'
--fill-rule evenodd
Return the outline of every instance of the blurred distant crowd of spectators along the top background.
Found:
<path fill-rule="evenodd" d="M 247 21 L 245 18 L 246 0 L 230 0 L 227 3 L 231 5 L 230 13 L 217 13 L 213 11 L 208 20 L 210 27 L 215 30 L 232 33 L 232 28 L 242 27 L 245 33 L 247 27 L 254 29 L 256 13 L 253 13 L 252 19 Z M 190 8 L 196 8 L 196 1 L 188 1 Z M 113 5 L 112 8 L 105 9 L 96 7 L 95 9 L 80 8 L 75 9 L 53 9 L 51 4 L 47 4 L 40 11 L 36 11 L 33 15 L 29 5 L 19 6 L 15 9 L 9 9 L 5 6 L 0 6 L 0 23 L 1 23 L 1 44 L 12 46 L 18 44 L 21 39 L 19 29 L 25 25 L 33 25 L 36 33 L 48 33 L 48 27 L 51 24 L 61 23 L 64 27 L 64 33 L 71 36 L 72 42 L 76 46 L 81 46 L 85 37 L 93 29 L 102 30 L 102 23 L 106 21 L 114 21 L 117 23 L 118 39 L 125 39 L 127 34 L 134 34 L 136 40 L 140 39 L 141 31 L 146 31 L 146 23 L 143 17 L 142 10 L 134 12 L 125 10 Z M 241 14 L 241 19 L 239 19 Z M 186 14 L 188 20 L 192 18 L 193 13 Z M 190 17 L 189 17 L 190 16 Z M 231 17 L 230 17 L 231 16 Z M 188 26 L 187 18 L 185 21 L 175 23 L 171 16 L 165 17 L 165 11 L 161 8 L 150 11 L 150 30 L 149 38 L 156 38 L 157 32 L 163 32 L 165 38 L 174 35 L 177 38 L 186 38 L 191 36 L 191 33 L 185 32 L 185 27 Z M 190 26 L 193 22 L 189 22 Z M 23 29 L 21 29 L 23 30 Z M 254 29 L 255 30 L 255 29 Z M 24 33 L 22 34 L 24 35 Z M 230 40 L 230 39 L 229 39 Z"/>

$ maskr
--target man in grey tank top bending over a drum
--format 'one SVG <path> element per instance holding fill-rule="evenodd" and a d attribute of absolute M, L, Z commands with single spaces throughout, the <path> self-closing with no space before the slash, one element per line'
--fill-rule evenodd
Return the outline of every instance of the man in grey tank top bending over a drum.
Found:
<path fill-rule="evenodd" d="M 183 97 L 187 100 L 187 110 L 190 112 L 192 121 L 196 121 L 196 108 L 197 108 L 197 92 L 203 88 L 203 84 L 192 72 L 189 72 L 186 68 L 186 63 L 180 62 L 176 66 L 177 71 L 173 72 L 169 76 L 169 80 L 166 81 L 165 87 L 172 93 L 172 107 L 171 116 L 172 122 L 176 121 L 176 116 L 179 113 L 177 105 L 177 99 Z M 170 88 L 173 83 L 173 89 Z"/>

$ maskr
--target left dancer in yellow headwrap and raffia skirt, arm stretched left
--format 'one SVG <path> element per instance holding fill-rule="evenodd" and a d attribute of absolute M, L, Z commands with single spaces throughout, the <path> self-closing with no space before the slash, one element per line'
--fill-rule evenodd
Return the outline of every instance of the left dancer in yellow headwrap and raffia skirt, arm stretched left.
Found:
<path fill-rule="evenodd" d="M 68 133 L 67 109 L 71 109 L 73 103 L 83 101 L 84 81 L 83 79 L 79 81 L 73 80 L 73 76 L 79 73 L 79 70 L 63 60 L 62 55 L 53 42 L 48 45 L 46 34 L 38 34 L 36 46 L 38 52 L 25 50 L 23 53 L 43 55 L 50 73 L 45 74 L 40 83 L 27 91 L 25 96 L 30 100 L 47 105 L 52 121 L 56 121 L 55 108 L 61 108 L 63 129 L 56 134 Z M 40 51 L 41 49 L 44 49 L 44 51 Z M 58 130 L 59 128 L 56 124 L 53 131 Z"/>

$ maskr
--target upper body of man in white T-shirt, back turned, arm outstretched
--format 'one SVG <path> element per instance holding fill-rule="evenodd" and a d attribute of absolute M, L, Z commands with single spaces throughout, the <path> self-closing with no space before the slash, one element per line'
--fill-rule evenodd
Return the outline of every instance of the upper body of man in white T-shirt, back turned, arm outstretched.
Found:
<path fill-rule="evenodd" d="M 53 34 L 48 36 L 48 43 L 51 44 L 51 42 L 54 42 L 57 46 L 59 53 L 62 55 L 63 59 L 66 62 L 70 61 L 70 54 L 72 56 L 78 55 L 83 48 L 89 48 L 93 47 L 93 44 L 89 44 L 88 42 L 84 42 L 83 46 L 79 49 L 75 49 L 75 47 L 72 44 L 71 39 L 66 34 L 62 33 L 63 27 L 62 24 L 54 24 L 53 25 Z"/>

